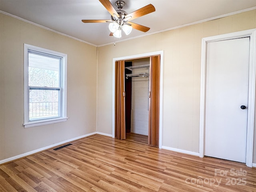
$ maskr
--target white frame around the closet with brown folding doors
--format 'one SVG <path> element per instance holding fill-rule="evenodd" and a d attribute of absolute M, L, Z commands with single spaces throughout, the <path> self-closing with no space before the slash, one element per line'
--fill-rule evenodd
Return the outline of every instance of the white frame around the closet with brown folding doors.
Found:
<path fill-rule="evenodd" d="M 115 63 L 118 60 L 131 60 L 143 57 L 160 55 L 160 103 L 159 103 L 159 148 L 162 149 L 162 110 L 163 110 L 163 66 L 164 66 L 164 51 L 149 52 L 144 54 L 123 56 L 113 58 L 112 71 L 112 138 L 115 138 Z"/>

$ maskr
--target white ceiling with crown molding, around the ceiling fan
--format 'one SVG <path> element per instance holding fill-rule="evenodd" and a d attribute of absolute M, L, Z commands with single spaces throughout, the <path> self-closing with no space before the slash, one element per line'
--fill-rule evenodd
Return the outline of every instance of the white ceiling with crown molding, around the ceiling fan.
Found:
<path fill-rule="evenodd" d="M 114 8 L 116 0 L 110 0 Z M 146 33 L 132 30 L 125 40 L 176 28 L 210 18 L 256 8 L 256 0 L 124 0 L 128 13 L 148 4 L 155 12 L 132 20 L 150 27 Z M 117 9 L 117 8 L 116 8 Z M 0 10 L 90 44 L 114 42 L 108 23 L 83 23 L 82 19 L 109 20 L 110 14 L 98 0 L 0 0 Z"/>

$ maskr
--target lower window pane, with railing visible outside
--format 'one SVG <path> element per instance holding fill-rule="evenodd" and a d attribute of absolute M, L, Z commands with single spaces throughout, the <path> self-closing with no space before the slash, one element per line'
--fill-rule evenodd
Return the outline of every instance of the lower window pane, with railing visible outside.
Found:
<path fill-rule="evenodd" d="M 30 90 L 29 94 L 29 120 L 60 116 L 59 90 Z"/>

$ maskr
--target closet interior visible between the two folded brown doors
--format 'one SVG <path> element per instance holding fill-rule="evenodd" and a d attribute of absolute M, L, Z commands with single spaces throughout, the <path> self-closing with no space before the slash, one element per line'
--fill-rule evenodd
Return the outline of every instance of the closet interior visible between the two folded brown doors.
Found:
<path fill-rule="evenodd" d="M 150 58 L 124 62 L 126 139 L 148 143 Z"/>

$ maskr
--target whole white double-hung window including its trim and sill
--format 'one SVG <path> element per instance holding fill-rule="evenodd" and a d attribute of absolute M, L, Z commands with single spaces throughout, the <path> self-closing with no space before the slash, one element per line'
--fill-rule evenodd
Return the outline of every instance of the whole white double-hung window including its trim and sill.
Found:
<path fill-rule="evenodd" d="M 24 44 L 24 127 L 67 120 L 67 55 Z"/>

